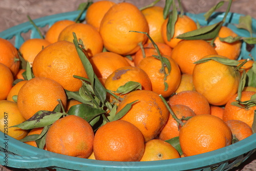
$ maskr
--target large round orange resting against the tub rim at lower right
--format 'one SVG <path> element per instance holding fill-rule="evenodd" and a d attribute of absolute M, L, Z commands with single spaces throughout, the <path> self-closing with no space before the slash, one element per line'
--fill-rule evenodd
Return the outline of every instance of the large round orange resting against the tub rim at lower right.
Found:
<path fill-rule="evenodd" d="M 180 146 L 185 157 L 214 151 L 230 145 L 232 134 L 217 116 L 196 115 L 180 129 Z"/>

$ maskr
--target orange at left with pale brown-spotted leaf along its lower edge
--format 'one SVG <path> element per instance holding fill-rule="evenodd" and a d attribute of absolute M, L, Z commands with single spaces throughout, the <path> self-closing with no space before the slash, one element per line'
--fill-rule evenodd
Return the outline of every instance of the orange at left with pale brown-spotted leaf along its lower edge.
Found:
<path fill-rule="evenodd" d="M 67 97 L 61 85 L 49 78 L 35 77 L 28 80 L 18 92 L 18 109 L 25 119 L 29 119 L 36 112 L 53 111 L 61 100 L 66 107 Z"/>

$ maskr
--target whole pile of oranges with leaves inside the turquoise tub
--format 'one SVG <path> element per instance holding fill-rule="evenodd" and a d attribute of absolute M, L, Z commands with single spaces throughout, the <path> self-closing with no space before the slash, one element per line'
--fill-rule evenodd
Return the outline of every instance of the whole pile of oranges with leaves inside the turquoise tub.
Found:
<path fill-rule="evenodd" d="M 29 145 L 110 161 L 193 156 L 252 135 L 256 87 L 244 77 L 256 66 L 238 60 L 242 40 L 221 41 L 237 36 L 225 26 L 212 40 L 177 38 L 200 29 L 181 14 L 168 37 L 163 11 L 99 1 L 84 22 L 60 20 L 18 50 L 0 38 L 0 130 L 8 120 Z"/>

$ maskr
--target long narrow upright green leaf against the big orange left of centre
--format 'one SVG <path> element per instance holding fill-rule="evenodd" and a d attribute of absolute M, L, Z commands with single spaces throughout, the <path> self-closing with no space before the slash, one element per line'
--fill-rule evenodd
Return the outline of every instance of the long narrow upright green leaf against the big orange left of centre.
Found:
<path fill-rule="evenodd" d="M 92 88 L 94 90 L 95 96 L 100 99 L 102 103 L 104 103 L 106 99 L 106 90 L 99 81 L 98 77 L 95 75 L 93 71 L 93 67 L 87 58 L 87 56 L 84 54 L 83 49 L 79 46 L 76 34 L 73 33 L 74 36 L 74 44 L 76 47 L 76 51 L 81 59 L 82 65 L 84 69 L 86 70 L 87 76 L 90 80 L 90 83 L 92 84 Z"/>

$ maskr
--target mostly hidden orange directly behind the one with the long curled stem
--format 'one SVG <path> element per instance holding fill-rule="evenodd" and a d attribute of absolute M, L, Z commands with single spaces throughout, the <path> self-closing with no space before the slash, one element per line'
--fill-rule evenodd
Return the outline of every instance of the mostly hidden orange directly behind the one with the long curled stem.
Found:
<path fill-rule="evenodd" d="M 172 48 L 170 48 L 168 45 L 166 45 L 162 42 L 156 42 L 156 45 L 157 45 L 161 55 L 170 56 L 170 54 L 172 53 Z M 145 53 L 145 57 L 146 56 L 152 56 L 152 55 L 158 55 L 157 50 L 153 46 L 152 42 L 148 42 L 145 45 L 143 45 L 143 50 L 144 50 L 144 53 Z M 139 49 L 135 53 L 134 65 L 138 66 L 141 59 L 143 59 L 143 54 L 142 54 L 142 50 Z"/>

